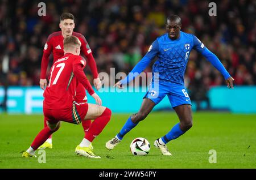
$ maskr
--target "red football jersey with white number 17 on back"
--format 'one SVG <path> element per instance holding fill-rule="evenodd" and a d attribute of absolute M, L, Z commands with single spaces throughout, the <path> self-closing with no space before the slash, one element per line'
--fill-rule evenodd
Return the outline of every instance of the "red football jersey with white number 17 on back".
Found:
<path fill-rule="evenodd" d="M 70 109 L 72 108 L 73 100 L 76 95 L 77 84 L 83 76 L 86 79 L 84 72 L 79 76 L 75 76 L 74 67 L 80 65 L 85 67 L 85 59 L 80 55 L 73 55 L 71 53 L 65 54 L 60 59 L 57 59 L 51 67 L 51 74 L 49 84 L 44 90 L 43 107 L 47 109 Z M 89 94 L 94 93 L 92 86 L 86 79 L 82 83 L 88 90 Z M 87 86 L 87 87 L 86 87 Z"/>

